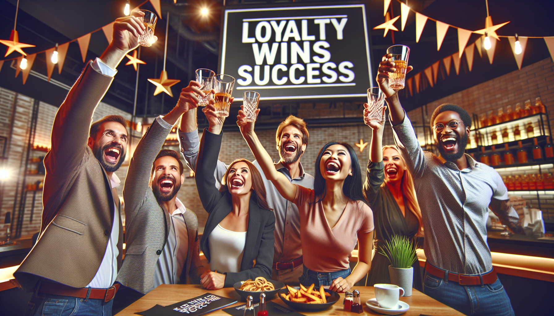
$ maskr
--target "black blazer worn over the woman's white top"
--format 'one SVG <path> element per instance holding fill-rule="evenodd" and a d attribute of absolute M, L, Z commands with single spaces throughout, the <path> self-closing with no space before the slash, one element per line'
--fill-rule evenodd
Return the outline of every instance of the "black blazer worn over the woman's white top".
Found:
<path fill-rule="evenodd" d="M 202 205 L 209 213 L 204 234 L 200 241 L 200 248 L 208 262 L 210 262 L 208 236 L 233 209 L 231 194 L 227 190 L 220 192 L 216 188 L 216 179 L 213 177 L 219 149 L 221 148 L 222 134 L 216 135 L 209 132 L 208 129 L 204 129 L 198 152 L 196 175 L 194 176 Z M 275 242 L 274 228 L 275 214 L 270 210 L 260 209 L 253 194 L 250 197 L 248 231 L 240 272 L 225 273 L 227 277 L 225 277 L 224 287 L 232 287 L 238 281 L 257 277 L 271 278 Z"/>

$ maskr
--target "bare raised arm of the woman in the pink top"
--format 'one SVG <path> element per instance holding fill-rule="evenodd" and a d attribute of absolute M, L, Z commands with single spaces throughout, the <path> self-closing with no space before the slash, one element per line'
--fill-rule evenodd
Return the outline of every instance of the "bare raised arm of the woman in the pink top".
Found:
<path fill-rule="evenodd" d="M 242 106 L 241 106 L 242 108 Z M 256 116 L 260 109 L 256 110 Z M 237 116 L 237 125 L 240 128 L 240 132 L 243 134 L 244 139 L 248 143 L 250 150 L 254 154 L 256 161 L 260 164 L 261 170 L 263 170 L 265 177 L 275 185 L 275 188 L 279 191 L 283 198 L 293 201 L 296 195 L 296 185 L 291 183 L 284 174 L 278 172 L 273 165 L 273 159 L 269 156 L 264 146 L 261 145 L 258 136 L 254 132 L 254 122 L 247 122 L 245 120 L 246 115 L 243 110 L 239 110 Z"/>

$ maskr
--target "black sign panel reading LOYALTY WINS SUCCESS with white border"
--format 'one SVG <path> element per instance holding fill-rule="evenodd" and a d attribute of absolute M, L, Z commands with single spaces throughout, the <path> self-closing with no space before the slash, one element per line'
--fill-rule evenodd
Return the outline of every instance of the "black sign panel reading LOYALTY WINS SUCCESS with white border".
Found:
<path fill-rule="evenodd" d="M 239 101 L 247 90 L 262 100 L 366 96 L 365 6 L 225 10 L 220 65 Z"/>

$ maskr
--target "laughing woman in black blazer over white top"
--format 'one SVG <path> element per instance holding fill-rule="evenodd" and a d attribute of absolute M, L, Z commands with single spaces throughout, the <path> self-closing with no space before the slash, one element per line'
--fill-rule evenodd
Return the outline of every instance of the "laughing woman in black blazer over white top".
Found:
<path fill-rule="evenodd" d="M 206 110 L 204 112 L 213 112 Z M 206 116 L 210 114 L 206 113 Z M 252 163 L 246 159 L 235 160 L 227 168 L 219 190 L 216 188 L 213 174 L 222 140 L 222 133 L 217 132 L 215 134 L 204 129 L 194 177 L 202 205 L 209 213 L 200 247 L 208 262 L 211 262 L 212 270 L 216 270 L 215 263 L 227 261 L 234 263 L 237 271 L 218 273 L 207 270 L 201 276 L 202 286 L 206 289 L 232 287 L 238 281 L 257 277 L 270 279 L 275 241 L 275 215 L 266 201 L 261 175 Z M 237 236 L 241 232 L 242 236 L 246 233 L 245 239 L 242 237 L 242 253 L 239 242 L 233 255 L 229 250 L 232 246 L 227 246 L 229 239 L 224 238 L 225 234 Z M 215 249 L 211 250 L 210 245 Z"/>

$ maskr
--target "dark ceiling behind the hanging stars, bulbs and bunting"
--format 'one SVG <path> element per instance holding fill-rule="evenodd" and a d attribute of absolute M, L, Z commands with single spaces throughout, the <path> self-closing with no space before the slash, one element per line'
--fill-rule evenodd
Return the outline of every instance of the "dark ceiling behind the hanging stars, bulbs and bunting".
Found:
<path fill-rule="evenodd" d="M 0 38 L 2 39 L 8 39 L 13 28 L 16 1 L 0 0 Z M 139 3 L 137 0 L 131 0 L 131 7 Z M 337 3 L 337 1 L 226 1 L 227 6 L 265 6 L 267 4 L 283 6 L 284 4 L 327 3 Z M 368 0 L 361 3 L 366 4 L 368 26 L 370 28 L 384 22 L 383 0 Z M 399 15 L 400 4 L 396 0 L 391 3 L 394 16 Z M 19 40 L 23 43 L 37 45 L 35 48 L 25 49 L 30 54 L 51 48 L 55 43 L 68 42 L 110 23 L 116 17 L 122 15 L 124 4 L 124 0 L 21 1 L 17 20 Z M 180 89 L 187 85 L 188 80 L 192 79 L 191 74 L 195 69 L 217 69 L 222 4 L 222 0 L 177 0 L 177 4 L 173 4 L 173 0 L 162 0 L 163 16 L 165 17 L 167 11 L 171 13 L 166 69 L 170 78 L 180 79 L 181 82 L 173 86 L 175 97 L 171 98 L 165 94 L 152 96 L 153 85 L 146 80 L 147 78 L 158 77 L 163 65 L 163 36 L 166 29 L 166 19 L 160 19 L 156 25 L 156 35 L 161 40 L 158 40 L 151 48 L 141 49 L 141 59 L 145 60 L 147 65 L 141 68 L 138 81 L 137 116 L 151 116 L 167 112 L 176 103 Z M 484 28 L 485 0 L 409 0 L 408 4 L 414 10 L 445 23 L 469 30 Z M 211 18 L 208 20 L 198 18 L 199 8 L 206 5 L 211 7 Z M 150 3 L 144 4 L 141 8 L 153 11 Z M 554 1 L 489 0 L 489 12 L 493 17 L 494 24 L 510 21 L 497 31 L 499 35 L 518 33 L 527 36 L 554 36 L 554 23 L 552 23 L 551 18 L 551 14 L 554 12 Z M 396 25 L 400 28 L 400 20 L 397 21 Z M 413 74 L 458 51 L 456 29 L 449 28 L 440 51 L 437 51 L 435 23 L 428 20 L 419 43 L 415 42 L 415 28 L 415 17 L 411 13 L 404 32 L 393 32 L 394 44 L 404 44 L 411 48 L 409 64 L 414 67 Z M 471 35 L 469 43 L 473 43 L 478 36 L 477 34 Z M 389 32 L 383 38 L 382 29 L 371 30 L 371 42 L 373 69 L 377 69 L 381 56 L 388 46 L 393 44 L 392 34 Z M 91 37 L 87 59 L 99 56 L 107 44 L 102 32 L 94 33 Z M 7 58 L 17 57 L 17 55 L 17 53 L 12 53 Z M 529 39 L 522 66 L 535 63 L 549 56 L 542 39 Z M 132 66 L 124 65 L 126 60 L 124 59 L 124 62 L 120 64 L 114 84 L 110 87 L 103 101 L 127 112 L 132 112 L 136 72 Z M 68 58 L 61 74 L 59 75 L 58 71 L 54 71 L 52 75 L 52 79 L 60 82 L 59 85 L 54 85 L 34 75 L 29 75 L 27 84 L 23 85 L 20 76 L 15 80 L 13 79 L 15 70 L 10 64 L 9 62 L 4 63 L 2 67 L 0 86 L 53 105 L 58 105 L 64 100 L 68 92 L 66 88 L 73 84 L 84 66 L 77 43 L 69 45 Z M 39 74 L 46 74 L 44 54 L 37 56 L 33 70 Z M 413 97 L 402 97 L 402 102 L 407 109 L 416 108 L 514 70 L 517 70 L 517 65 L 510 45 L 507 39 L 504 38 L 497 44 L 492 65 L 489 64 L 485 54 L 483 58 L 480 58 L 479 54 L 475 52 L 473 71 L 469 72 L 465 57 L 463 57 L 459 75 L 455 74 L 454 67 L 452 67 L 450 76 L 446 77 L 445 80 L 439 79 L 435 87 L 428 87 Z M 442 70 L 442 75 L 445 76 L 444 70 Z M 517 87 L 514 88 L 517 89 Z"/>

